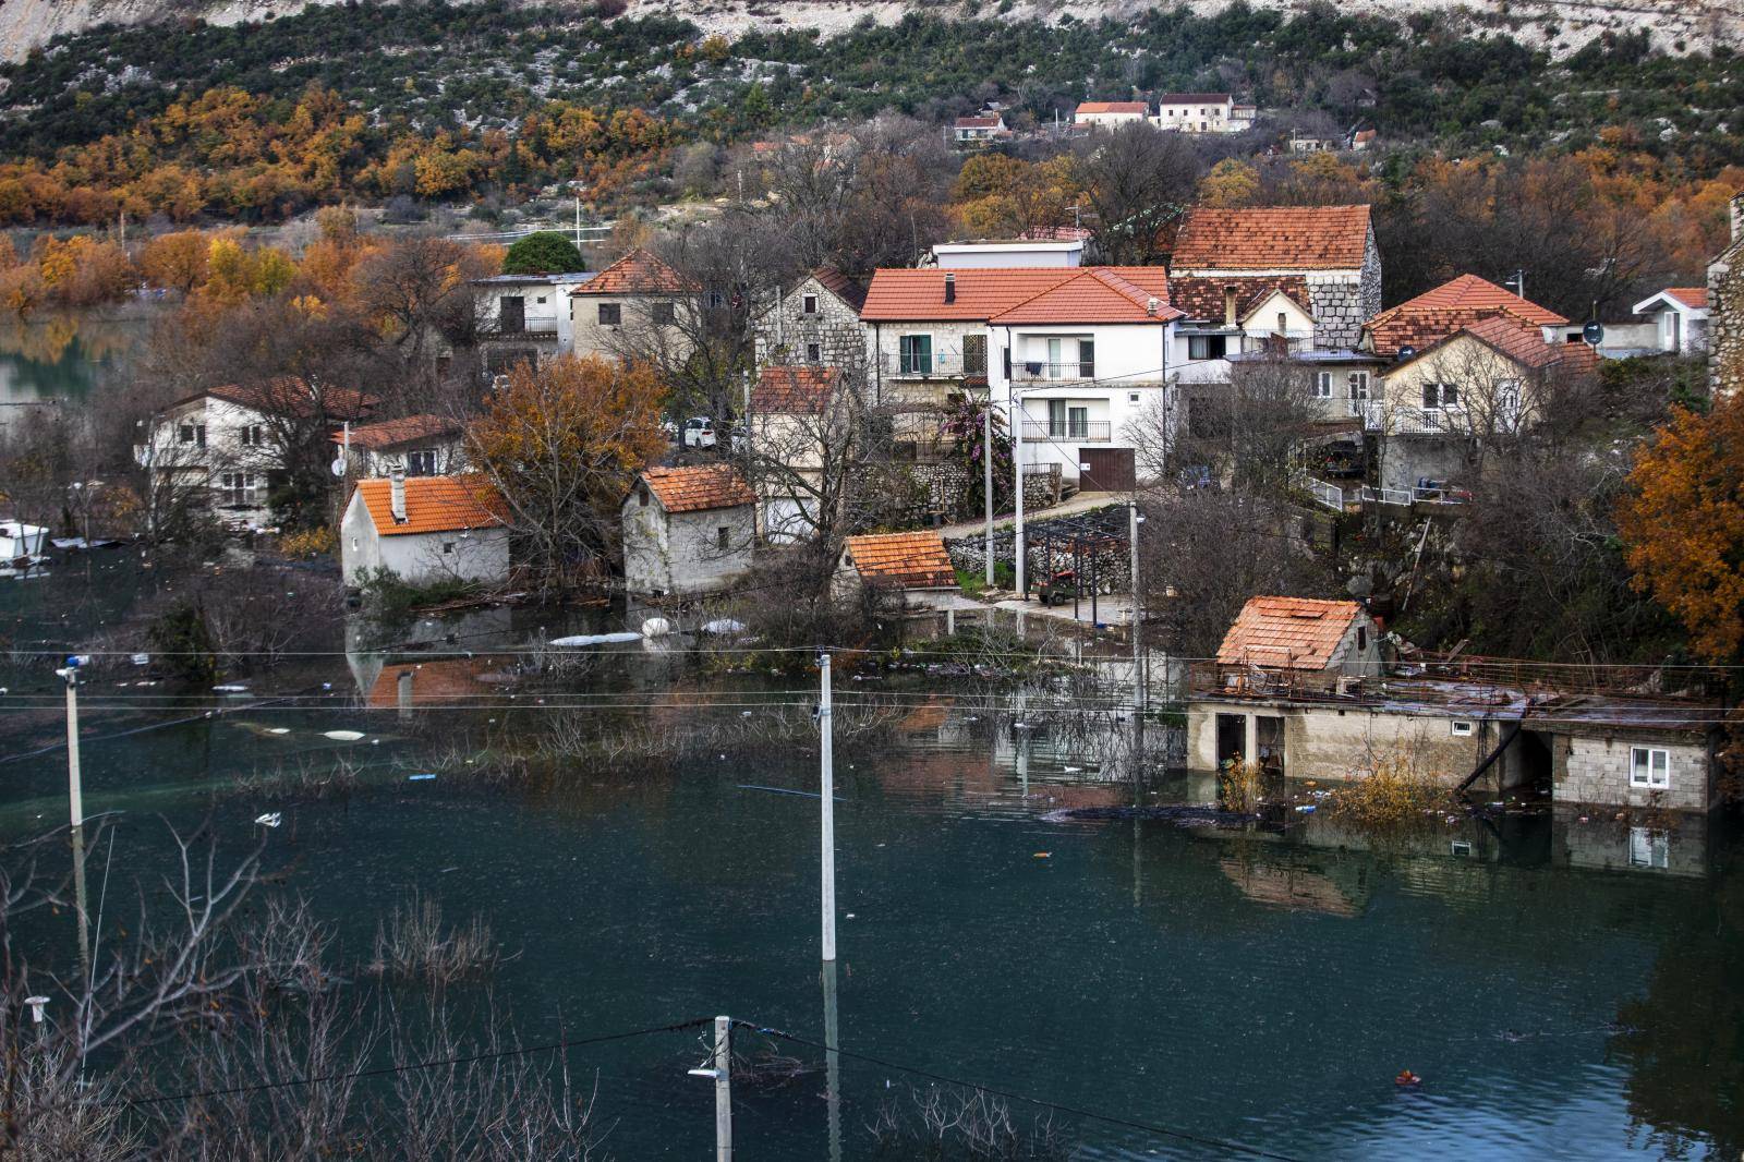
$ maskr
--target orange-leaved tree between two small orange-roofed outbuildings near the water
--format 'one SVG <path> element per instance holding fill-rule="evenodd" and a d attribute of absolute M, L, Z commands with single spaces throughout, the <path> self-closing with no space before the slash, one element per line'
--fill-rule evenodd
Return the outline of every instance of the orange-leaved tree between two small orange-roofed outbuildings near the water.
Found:
<path fill-rule="evenodd" d="M 528 584 L 548 593 L 605 572 L 617 506 L 666 445 L 647 365 L 598 356 L 516 363 L 467 429 L 467 457 L 502 494 Z"/>

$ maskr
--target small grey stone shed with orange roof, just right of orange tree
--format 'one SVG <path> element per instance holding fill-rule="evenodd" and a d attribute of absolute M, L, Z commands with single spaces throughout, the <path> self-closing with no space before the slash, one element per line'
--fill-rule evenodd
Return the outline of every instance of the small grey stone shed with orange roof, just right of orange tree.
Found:
<path fill-rule="evenodd" d="M 694 597 L 752 567 L 757 494 L 731 464 L 647 468 L 623 504 L 624 588 Z"/>

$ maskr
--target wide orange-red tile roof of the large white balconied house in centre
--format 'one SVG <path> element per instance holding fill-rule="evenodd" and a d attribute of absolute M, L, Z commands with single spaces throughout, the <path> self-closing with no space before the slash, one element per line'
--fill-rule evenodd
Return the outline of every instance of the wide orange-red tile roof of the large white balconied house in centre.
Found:
<path fill-rule="evenodd" d="M 945 276 L 956 279 L 956 300 L 945 302 Z M 1062 297 L 1036 307 L 1038 318 L 1005 318 L 1006 312 L 1034 298 L 1060 290 L 1066 283 L 1080 283 Z M 1156 297 L 1165 311 L 1156 319 L 1172 319 L 1168 307 L 1168 279 L 1162 267 L 968 267 L 945 270 L 940 267 L 884 269 L 872 274 L 867 302 L 860 318 L 867 321 L 1064 321 L 1095 323 L 1097 318 L 1066 318 L 1074 311 L 1107 314 L 1111 321 L 1144 323 L 1144 304 Z M 1114 318 L 1118 316 L 1118 318 Z"/>

